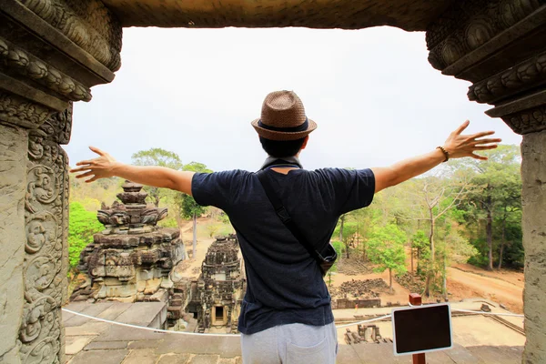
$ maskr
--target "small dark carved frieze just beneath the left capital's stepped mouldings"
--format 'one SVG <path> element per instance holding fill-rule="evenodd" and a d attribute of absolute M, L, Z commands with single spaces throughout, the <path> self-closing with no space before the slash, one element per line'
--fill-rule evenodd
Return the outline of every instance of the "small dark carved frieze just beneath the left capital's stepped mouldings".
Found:
<path fill-rule="evenodd" d="M 52 112 L 48 107 L 0 91 L 0 120 L 32 128 L 44 123 Z"/>

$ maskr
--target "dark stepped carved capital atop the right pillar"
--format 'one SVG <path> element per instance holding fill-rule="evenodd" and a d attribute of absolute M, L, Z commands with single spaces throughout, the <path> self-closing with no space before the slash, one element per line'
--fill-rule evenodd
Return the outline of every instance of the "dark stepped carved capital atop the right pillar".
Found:
<path fill-rule="evenodd" d="M 427 32 L 429 61 L 473 83 L 470 101 L 493 107 L 518 134 L 546 128 L 546 4 L 473 0 L 453 4 Z"/>

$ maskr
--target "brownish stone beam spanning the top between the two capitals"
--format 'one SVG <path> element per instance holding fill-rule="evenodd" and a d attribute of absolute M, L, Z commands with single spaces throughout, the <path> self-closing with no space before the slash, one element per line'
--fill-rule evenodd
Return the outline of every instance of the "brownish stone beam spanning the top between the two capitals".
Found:
<path fill-rule="evenodd" d="M 425 30 L 454 0 L 103 0 L 123 26 Z"/>

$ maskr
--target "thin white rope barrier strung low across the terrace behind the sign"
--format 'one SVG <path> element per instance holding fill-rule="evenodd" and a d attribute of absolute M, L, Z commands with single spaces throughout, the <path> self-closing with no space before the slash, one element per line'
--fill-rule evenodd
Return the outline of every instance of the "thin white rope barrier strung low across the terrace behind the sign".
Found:
<path fill-rule="evenodd" d="M 240 335 L 240 334 L 210 334 L 210 333 L 200 334 L 200 333 L 197 333 L 197 332 L 173 331 L 173 330 L 166 330 L 166 329 L 147 328 L 147 327 L 144 327 L 144 326 L 137 326 L 137 325 L 126 324 L 126 323 L 123 323 L 123 322 L 112 321 L 110 319 L 96 318 L 94 316 L 89 316 L 89 315 L 86 315 L 85 313 L 76 312 L 76 311 L 73 311 L 73 310 L 67 309 L 67 308 L 62 308 L 62 309 L 66 313 L 70 313 L 70 314 L 76 315 L 76 316 L 81 316 L 82 318 L 86 318 L 86 319 L 94 319 L 96 321 L 106 322 L 108 324 L 123 326 L 123 327 L 126 327 L 126 328 L 143 329 L 143 330 L 148 330 L 148 331 L 153 331 L 153 332 L 162 332 L 162 333 L 166 333 L 166 334 L 178 334 L 178 335 L 189 335 L 189 336 L 213 336 L 213 337 L 221 337 L 221 336 L 234 337 L 234 336 L 239 336 Z M 523 318 L 524 317 L 524 315 L 520 315 L 520 314 L 516 314 L 516 313 L 472 311 L 470 309 L 451 309 L 451 311 L 452 312 L 473 313 L 473 314 L 479 314 L 479 315 L 511 316 L 511 317 L 516 317 L 516 318 Z M 369 322 L 375 322 L 375 321 L 380 321 L 380 320 L 383 320 L 383 319 L 389 319 L 391 316 L 392 315 L 389 314 L 389 315 L 379 316 L 378 318 L 374 318 L 374 319 L 364 319 L 364 320 L 357 321 L 357 322 L 351 322 L 349 324 L 338 325 L 338 326 L 336 326 L 336 328 L 337 329 L 349 328 L 349 326 L 361 325 L 361 324 L 365 324 L 365 323 L 369 323 Z"/>

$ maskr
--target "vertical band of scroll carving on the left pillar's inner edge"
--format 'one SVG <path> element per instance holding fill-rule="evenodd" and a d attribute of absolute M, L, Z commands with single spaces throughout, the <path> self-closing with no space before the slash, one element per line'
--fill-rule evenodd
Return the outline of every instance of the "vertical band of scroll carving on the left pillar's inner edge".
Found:
<path fill-rule="evenodd" d="M 19 331 L 24 363 L 64 362 L 60 307 L 66 298 L 68 176 L 66 153 L 71 110 L 31 130 L 25 196 L 25 306 Z M 61 136 L 57 134 L 60 133 Z"/>

